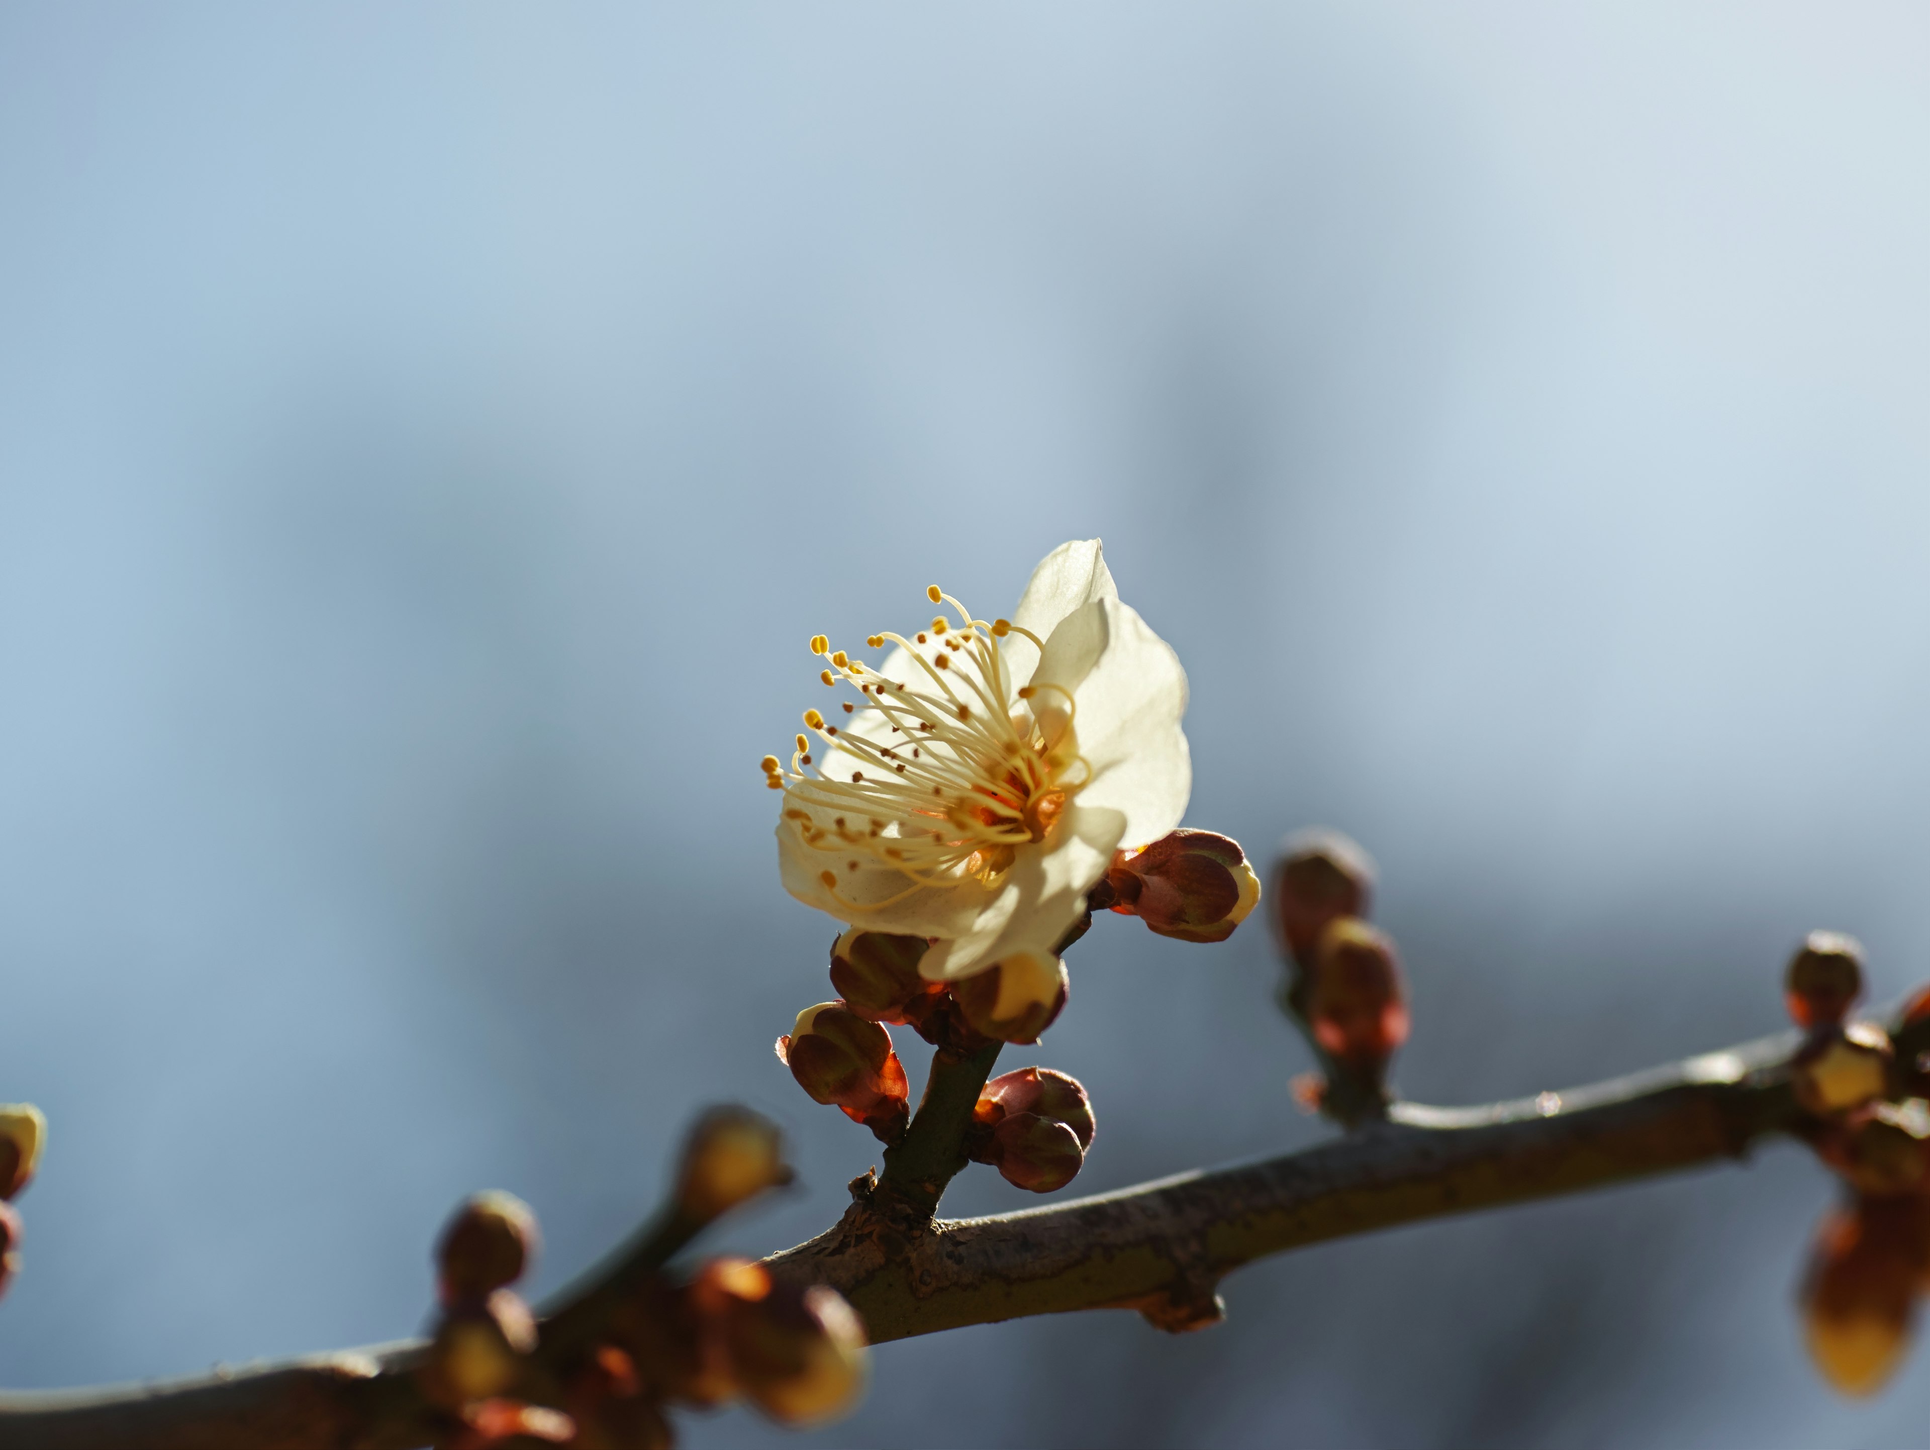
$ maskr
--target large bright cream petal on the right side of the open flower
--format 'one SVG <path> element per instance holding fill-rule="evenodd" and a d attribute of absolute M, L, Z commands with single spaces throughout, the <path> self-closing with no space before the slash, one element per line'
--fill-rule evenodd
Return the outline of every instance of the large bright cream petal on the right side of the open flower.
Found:
<path fill-rule="evenodd" d="M 1044 685 L 1073 697 L 1079 753 L 1092 767 L 1081 805 L 1119 811 L 1123 840 L 1135 846 L 1179 824 L 1193 792 L 1193 757 L 1179 728 L 1187 672 L 1133 608 L 1096 599 L 1069 614 L 1046 641 L 1033 685 L 1042 724 L 1063 703 Z"/>

